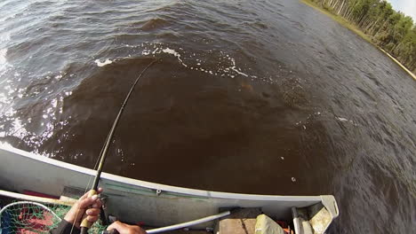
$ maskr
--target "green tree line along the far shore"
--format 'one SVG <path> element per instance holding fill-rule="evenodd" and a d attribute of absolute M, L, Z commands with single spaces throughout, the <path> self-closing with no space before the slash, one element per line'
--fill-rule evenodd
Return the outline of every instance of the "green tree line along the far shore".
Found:
<path fill-rule="evenodd" d="M 416 24 L 385 0 L 302 0 L 396 58 L 416 79 Z"/>

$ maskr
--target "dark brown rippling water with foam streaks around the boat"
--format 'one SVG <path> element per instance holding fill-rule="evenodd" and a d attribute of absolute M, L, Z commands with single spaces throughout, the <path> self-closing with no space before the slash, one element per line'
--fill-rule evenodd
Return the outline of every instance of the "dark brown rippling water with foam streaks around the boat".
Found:
<path fill-rule="evenodd" d="M 333 194 L 331 233 L 416 229 L 416 82 L 295 0 L 0 2 L 0 141 L 211 191 Z M 0 162 L 1 163 L 1 162 Z"/>

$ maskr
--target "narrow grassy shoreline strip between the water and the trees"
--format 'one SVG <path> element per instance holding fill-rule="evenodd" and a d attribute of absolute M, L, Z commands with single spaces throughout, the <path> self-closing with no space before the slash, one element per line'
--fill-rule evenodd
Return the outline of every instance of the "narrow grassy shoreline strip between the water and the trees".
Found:
<path fill-rule="evenodd" d="M 319 7 L 317 4 L 311 2 L 310 0 L 300 0 L 300 2 L 303 3 L 303 4 L 307 4 L 308 6 L 316 9 L 319 12 L 323 12 L 325 15 L 331 17 L 332 20 L 335 20 L 338 23 L 340 23 L 341 26 L 347 27 L 349 30 L 356 33 L 356 35 L 361 36 L 368 43 L 372 43 L 372 39 L 370 39 L 370 37 L 368 37 L 368 35 L 365 35 L 363 31 L 361 31 L 359 28 L 357 28 L 355 25 L 351 24 L 348 20 L 345 20 L 341 16 L 332 14 L 332 12 L 325 11 L 323 8 Z M 387 51 L 384 51 L 383 49 L 381 49 L 378 45 L 376 45 L 374 43 L 372 43 L 372 45 L 375 46 L 377 49 L 379 49 L 384 54 L 386 54 L 388 56 L 388 58 L 391 58 L 398 66 L 402 67 L 404 69 L 404 71 L 407 72 L 407 74 L 409 74 L 410 76 L 412 76 L 412 78 L 416 81 L 416 75 L 413 74 L 412 71 L 407 69 L 407 67 L 405 67 L 402 63 L 400 63 L 396 58 L 394 58 L 392 55 L 390 55 Z"/>

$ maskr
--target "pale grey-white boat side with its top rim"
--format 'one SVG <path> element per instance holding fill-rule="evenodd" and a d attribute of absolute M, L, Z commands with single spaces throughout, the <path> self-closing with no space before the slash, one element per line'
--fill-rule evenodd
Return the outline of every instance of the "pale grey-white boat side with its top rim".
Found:
<path fill-rule="evenodd" d="M 95 171 L 0 145 L 0 189 L 39 191 L 60 196 L 65 187 L 89 188 Z M 107 210 L 125 222 L 166 226 L 218 214 L 221 207 L 261 207 L 279 220 L 292 220 L 292 207 L 324 204 L 332 220 L 338 207 L 332 195 L 268 196 L 193 190 L 102 173 Z M 332 222 L 331 220 L 331 222 Z M 212 223 L 199 228 L 209 227 Z"/>

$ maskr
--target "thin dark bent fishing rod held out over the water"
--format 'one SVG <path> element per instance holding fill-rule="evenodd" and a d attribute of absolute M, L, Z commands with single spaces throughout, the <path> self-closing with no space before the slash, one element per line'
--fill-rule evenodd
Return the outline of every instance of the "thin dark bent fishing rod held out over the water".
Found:
<path fill-rule="evenodd" d="M 124 107 L 127 104 L 127 101 L 129 100 L 130 96 L 132 95 L 132 91 L 134 90 L 134 87 L 136 86 L 137 82 L 139 82 L 140 77 L 146 72 L 146 70 L 148 70 L 148 67 L 152 66 L 153 64 L 156 63 L 158 59 L 153 60 L 151 63 L 148 64 L 148 66 L 146 66 L 141 73 L 139 74 L 139 76 L 136 78 L 136 80 L 134 81 L 134 83 L 132 84 L 132 88 L 130 88 L 130 91 L 127 93 L 127 96 L 124 98 L 124 102 L 123 105 L 120 107 L 120 110 L 118 111 L 118 114 L 116 116 L 116 120 L 113 122 L 113 126 L 111 127 L 110 131 L 108 132 L 108 136 L 106 141 L 104 142 L 104 145 L 101 149 L 100 152 L 100 163 L 99 166 L 97 168 L 97 173 L 95 175 L 94 178 L 94 182 L 92 183 L 92 188 L 91 191 L 88 193 L 88 197 L 92 197 L 93 195 L 97 194 L 97 189 L 98 189 L 98 184 L 100 181 L 100 176 L 101 176 L 101 172 L 102 172 L 102 168 L 104 167 L 104 162 L 106 161 L 107 158 L 107 153 L 108 153 L 108 148 L 110 146 L 110 142 L 111 139 L 114 136 L 114 132 L 116 131 L 116 127 L 118 124 L 118 121 L 120 121 L 120 117 L 124 111 Z M 86 214 L 84 214 L 83 217 L 83 222 L 81 222 L 81 234 L 87 234 L 88 233 L 88 229 L 91 228 L 92 226 L 92 222 L 89 222 L 86 218 Z"/>

